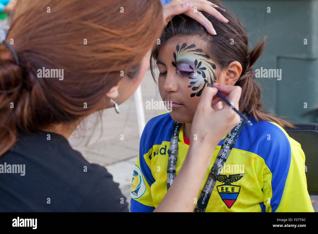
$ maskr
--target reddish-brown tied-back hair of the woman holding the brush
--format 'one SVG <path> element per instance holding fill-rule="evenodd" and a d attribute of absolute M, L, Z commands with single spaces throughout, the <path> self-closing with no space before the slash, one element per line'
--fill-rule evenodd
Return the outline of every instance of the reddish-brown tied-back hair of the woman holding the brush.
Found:
<path fill-rule="evenodd" d="M 19 131 L 72 123 L 95 110 L 121 71 L 136 75 L 162 29 L 159 0 L 18 1 L 6 40 L 20 66 L 0 44 L 0 90 L 23 85 L 0 93 L 0 155 Z M 64 79 L 39 78 L 43 67 L 64 69 Z"/>

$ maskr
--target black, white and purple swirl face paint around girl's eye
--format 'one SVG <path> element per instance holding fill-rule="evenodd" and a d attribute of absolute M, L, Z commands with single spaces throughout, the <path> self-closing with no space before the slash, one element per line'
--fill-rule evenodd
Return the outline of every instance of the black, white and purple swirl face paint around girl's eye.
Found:
<path fill-rule="evenodd" d="M 196 91 L 190 95 L 191 97 L 202 94 L 205 81 L 211 84 L 216 81 L 215 64 L 202 52 L 202 49 L 195 47 L 195 44 L 187 46 L 187 43 L 183 43 L 181 48 L 177 45 L 176 52 L 173 52 L 175 61 L 172 61 L 172 65 L 176 67 L 176 74 L 188 76 L 190 79 L 188 88 L 192 87 L 192 90 Z"/>

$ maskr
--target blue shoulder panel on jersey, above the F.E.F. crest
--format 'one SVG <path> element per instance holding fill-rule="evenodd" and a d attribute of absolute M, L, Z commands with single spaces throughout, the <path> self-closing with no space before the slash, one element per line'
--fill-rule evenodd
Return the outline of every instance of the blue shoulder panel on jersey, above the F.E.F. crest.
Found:
<path fill-rule="evenodd" d="M 268 121 L 257 122 L 249 117 L 252 126 L 245 126 L 235 142 L 234 148 L 255 153 L 262 157 L 272 173 L 272 212 L 277 209 L 284 191 L 291 160 L 291 147 L 286 134 Z M 267 140 L 270 138 L 270 140 Z M 218 145 L 222 145 L 224 139 Z"/>

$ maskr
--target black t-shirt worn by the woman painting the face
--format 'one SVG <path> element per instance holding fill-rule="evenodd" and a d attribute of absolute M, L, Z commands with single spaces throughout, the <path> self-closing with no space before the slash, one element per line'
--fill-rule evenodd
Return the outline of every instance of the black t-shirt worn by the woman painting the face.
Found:
<path fill-rule="evenodd" d="M 21 133 L 0 156 L 0 211 L 128 212 L 118 186 L 56 133 Z"/>

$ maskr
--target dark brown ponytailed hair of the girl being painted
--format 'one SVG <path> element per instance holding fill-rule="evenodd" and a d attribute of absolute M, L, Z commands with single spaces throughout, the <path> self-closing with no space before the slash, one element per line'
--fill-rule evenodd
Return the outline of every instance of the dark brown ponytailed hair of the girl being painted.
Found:
<path fill-rule="evenodd" d="M 225 9 L 225 6 L 220 1 L 212 0 L 211 2 Z M 229 20 L 227 24 L 220 22 L 205 12 L 201 13 L 212 23 L 217 35 L 211 35 L 204 26 L 184 14 L 172 18 L 162 33 L 160 44 L 151 53 L 150 70 L 154 81 L 157 83 L 154 69 L 160 47 L 172 38 L 194 37 L 205 42 L 204 51 L 211 59 L 216 61 L 220 70 L 228 67 L 232 61 L 238 61 L 242 65 L 242 74 L 235 84 L 242 88 L 242 95 L 239 101 L 239 110 L 241 112 L 247 112 L 256 121 L 270 121 L 282 127 L 294 127 L 288 121 L 273 116 L 272 113 L 264 110 L 263 103 L 260 101 L 261 91 L 255 81 L 255 73 L 251 67 L 262 54 L 266 44 L 266 37 L 262 41 L 258 41 L 256 46 L 249 51 L 245 26 L 240 23 L 237 16 L 230 9 L 225 11 L 218 8 L 215 9 Z M 234 44 L 231 44 L 231 42 Z"/>

